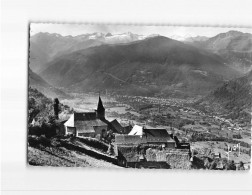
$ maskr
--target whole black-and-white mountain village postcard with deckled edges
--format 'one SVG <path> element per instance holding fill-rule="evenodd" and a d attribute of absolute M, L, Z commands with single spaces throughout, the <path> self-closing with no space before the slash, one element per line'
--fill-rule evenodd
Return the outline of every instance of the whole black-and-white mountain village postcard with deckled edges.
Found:
<path fill-rule="evenodd" d="M 248 171 L 252 29 L 29 24 L 27 163 Z"/>

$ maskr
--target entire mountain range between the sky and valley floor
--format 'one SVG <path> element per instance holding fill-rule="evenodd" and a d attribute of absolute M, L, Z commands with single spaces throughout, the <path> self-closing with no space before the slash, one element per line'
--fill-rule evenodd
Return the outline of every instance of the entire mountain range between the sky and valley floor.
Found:
<path fill-rule="evenodd" d="M 229 31 L 176 41 L 178 37 L 130 32 L 38 33 L 30 38 L 30 83 L 44 91 L 50 89 L 51 95 L 63 93 L 59 88 L 151 96 L 207 95 L 251 69 L 251 36 Z"/>

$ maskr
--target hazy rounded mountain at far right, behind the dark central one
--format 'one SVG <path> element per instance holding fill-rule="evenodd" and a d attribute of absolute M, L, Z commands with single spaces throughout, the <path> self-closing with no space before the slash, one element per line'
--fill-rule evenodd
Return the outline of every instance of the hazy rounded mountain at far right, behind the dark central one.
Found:
<path fill-rule="evenodd" d="M 246 73 L 252 69 L 252 34 L 239 31 L 220 33 L 193 45 L 215 52 L 227 60 L 228 65 Z"/>

